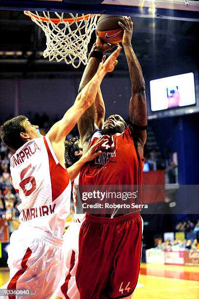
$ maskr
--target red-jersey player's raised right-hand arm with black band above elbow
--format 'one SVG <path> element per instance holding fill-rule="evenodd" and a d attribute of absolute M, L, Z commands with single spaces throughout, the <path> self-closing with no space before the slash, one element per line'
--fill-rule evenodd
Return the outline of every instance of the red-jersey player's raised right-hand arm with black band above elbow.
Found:
<path fill-rule="evenodd" d="M 124 17 L 125 25 L 119 22 L 124 29 L 122 44 L 124 46 L 127 58 L 129 73 L 132 83 L 132 96 L 129 105 L 130 121 L 133 124 L 133 131 L 136 134 L 137 142 L 142 151 L 146 143 L 146 126 L 147 126 L 147 104 L 145 94 L 145 81 L 142 74 L 141 66 L 133 51 L 131 43 L 133 35 L 133 22 L 131 17 Z M 142 152 L 143 155 L 143 152 Z"/>

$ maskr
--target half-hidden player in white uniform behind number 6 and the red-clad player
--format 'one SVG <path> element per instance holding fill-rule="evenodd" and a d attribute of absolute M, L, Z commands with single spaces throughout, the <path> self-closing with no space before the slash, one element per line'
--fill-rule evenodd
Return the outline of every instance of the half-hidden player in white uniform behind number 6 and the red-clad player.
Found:
<path fill-rule="evenodd" d="M 92 49 L 94 50 L 94 49 Z M 91 50 L 91 51 L 92 51 Z M 99 89 L 95 99 L 95 124 L 102 129 L 105 118 L 105 105 L 101 90 Z M 82 156 L 82 145 L 80 138 L 73 137 L 65 143 L 65 160 L 67 165 L 72 165 Z M 86 214 L 77 214 L 77 186 L 79 185 L 79 175 L 74 179 L 72 188 L 72 197 L 74 202 L 75 214 L 72 218 L 66 233 L 63 235 L 63 254 L 64 269 L 60 280 L 57 294 L 59 298 L 79 299 L 75 274 L 79 255 L 79 231 Z"/>

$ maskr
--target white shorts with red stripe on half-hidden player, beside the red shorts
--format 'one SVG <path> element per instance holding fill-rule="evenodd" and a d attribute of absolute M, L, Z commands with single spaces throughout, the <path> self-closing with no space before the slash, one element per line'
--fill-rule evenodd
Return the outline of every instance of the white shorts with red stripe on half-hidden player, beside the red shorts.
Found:
<path fill-rule="evenodd" d="M 79 232 L 82 223 L 71 222 L 63 235 L 64 269 L 62 279 L 57 288 L 57 295 L 61 298 L 79 299 L 79 291 L 76 286 L 75 274 L 79 255 Z"/>

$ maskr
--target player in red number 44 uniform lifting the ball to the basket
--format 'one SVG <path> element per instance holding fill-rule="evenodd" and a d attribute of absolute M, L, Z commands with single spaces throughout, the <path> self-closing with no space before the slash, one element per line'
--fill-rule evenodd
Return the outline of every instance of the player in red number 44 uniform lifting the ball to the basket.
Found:
<path fill-rule="evenodd" d="M 106 135 L 108 139 L 101 146 L 102 154 L 83 166 L 79 177 L 79 184 L 84 185 L 83 188 L 85 185 L 94 185 L 97 190 L 97 185 L 106 184 L 117 185 L 122 190 L 122 185 L 124 188 L 124 185 L 142 184 L 147 128 L 145 82 L 131 44 L 133 23 L 130 17 L 124 17 L 124 21 L 125 25 L 119 24 L 124 29 L 122 44 L 132 82 L 130 125 L 127 126 L 120 115 L 114 114 L 108 117 L 100 131 L 94 124 L 94 104 L 82 115 L 78 128 L 83 152 L 97 142 L 100 136 Z M 80 90 L 97 71 L 106 50 L 107 45 L 97 37 Z M 138 196 L 136 203 L 139 200 Z M 104 210 L 98 216 L 87 214 L 81 226 L 76 272 L 80 299 L 131 298 L 137 284 L 142 219 L 136 209 L 134 213 L 131 210 L 130 214 L 115 212 L 112 211 L 111 218 Z"/>

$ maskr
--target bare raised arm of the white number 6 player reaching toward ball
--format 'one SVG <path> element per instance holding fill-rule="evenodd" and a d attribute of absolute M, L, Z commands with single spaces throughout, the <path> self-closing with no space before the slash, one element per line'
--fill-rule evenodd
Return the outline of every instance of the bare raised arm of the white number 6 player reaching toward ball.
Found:
<path fill-rule="evenodd" d="M 100 84 L 106 73 L 111 72 L 114 69 L 120 51 L 121 47 L 118 47 L 109 58 L 98 67 L 94 77 L 78 94 L 74 105 L 66 111 L 64 117 L 53 125 L 47 133 L 53 150 L 62 166 L 65 165 L 63 153 L 65 152 L 64 140 L 66 135 L 75 126 L 86 109 L 91 107 L 94 103 Z"/>

